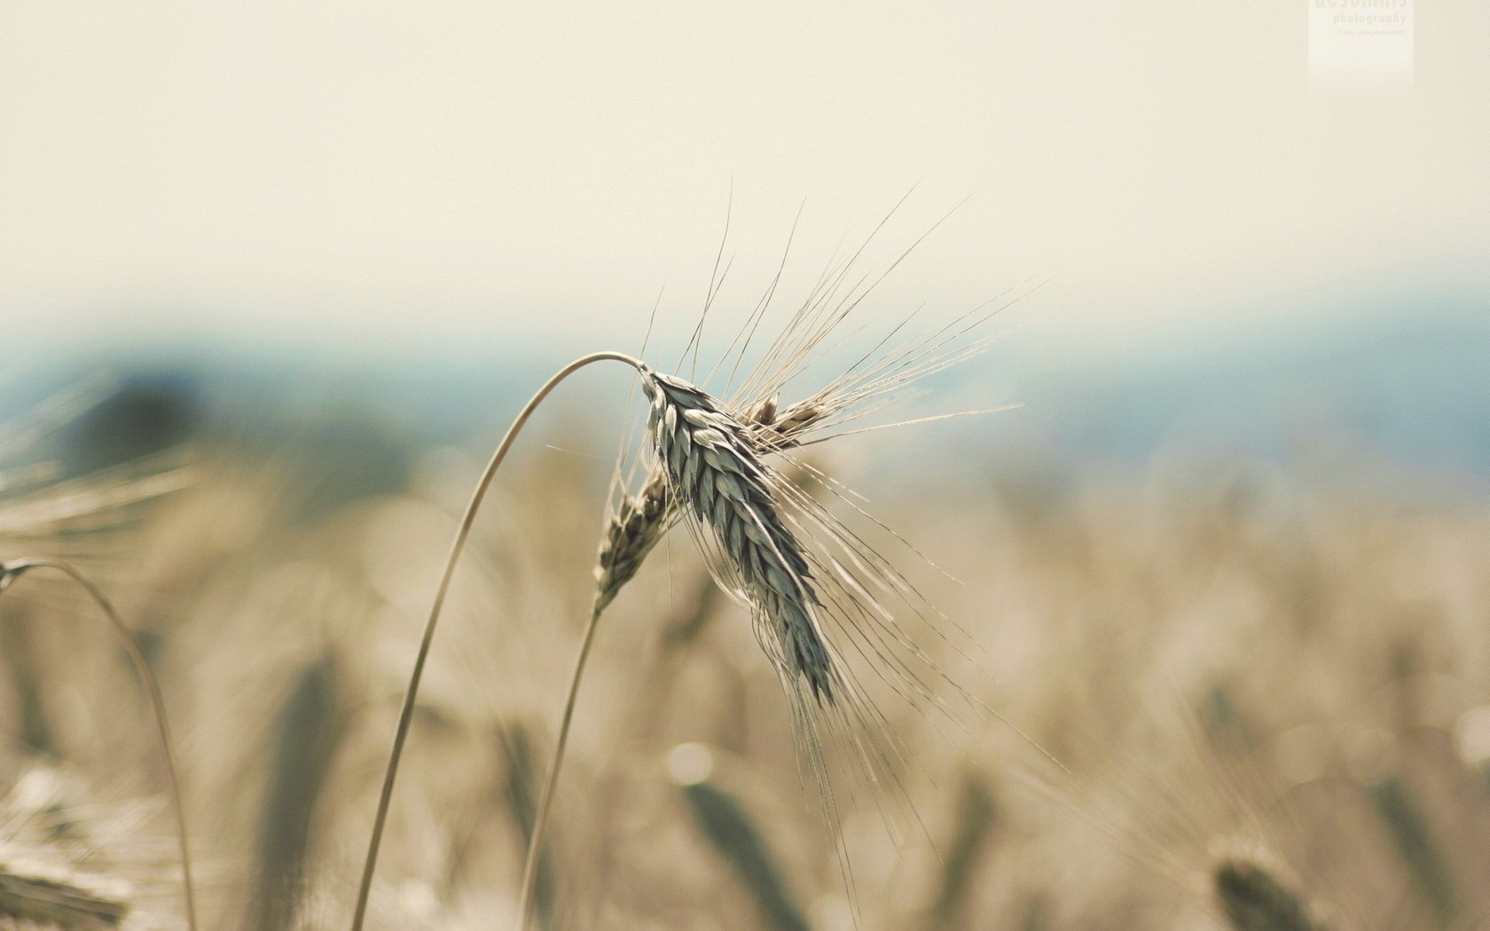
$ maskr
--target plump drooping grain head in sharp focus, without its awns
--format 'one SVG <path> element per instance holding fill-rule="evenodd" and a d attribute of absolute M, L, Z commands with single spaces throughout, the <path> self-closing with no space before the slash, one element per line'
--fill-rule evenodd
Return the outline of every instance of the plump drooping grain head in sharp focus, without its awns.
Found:
<path fill-rule="evenodd" d="M 779 514 L 778 484 L 749 429 L 688 381 L 647 366 L 641 372 L 669 490 L 714 532 L 735 576 L 726 587 L 751 606 L 772 661 L 831 705 L 837 670 L 818 630 L 812 571 Z"/>

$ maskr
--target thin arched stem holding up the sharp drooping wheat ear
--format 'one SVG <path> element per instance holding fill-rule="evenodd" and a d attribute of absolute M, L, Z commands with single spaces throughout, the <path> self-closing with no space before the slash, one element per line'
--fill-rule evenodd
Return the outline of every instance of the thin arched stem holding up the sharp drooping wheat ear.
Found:
<path fill-rule="evenodd" d="M 378 795 L 377 816 L 372 819 L 372 839 L 368 842 L 368 857 L 367 864 L 362 867 L 362 886 L 358 889 L 358 906 L 356 912 L 352 915 L 352 931 L 362 931 L 362 922 L 367 919 L 368 897 L 372 892 L 372 873 L 377 868 L 377 854 L 378 846 L 383 843 L 383 827 L 387 822 L 389 803 L 393 798 L 393 781 L 398 778 L 398 763 L 404 755 L 404 742 L 408 737 L 408 725 L 414 718 L 414 699 L 419 694 L 419 682 L 425 675 L 425 660 L 429 658 L 429 645 L 435 639 L 435 626 L 440 623 L 440 611 L 446 603 L 446 593 L 450 590 L 450 579 L 456 572 L 456 563 L 460 560 L 460 553 L 465 550 L 466 538 L 471 536 L 471 527 L 475 524 L 475 514 L 481 506 L 481 501 L 486 498 L 487 489 L 492 487 L 492 480 L 496 477 L 496 469 L 501 468 L 502 462 L 507 459 L 508 450 L 513 448 L 513 441 L 523 430 L 527 419 L 532 417 L 533 410 L 542 404 L 544 398 L 548 396 L 560 381 L 572 375 L 575 371 L 590 365 L 592 362 L 602 360 L 626 362 L 630 366 L 641 366 L 641 360 L 627 356 L 624 353 L 590 353 L 589 356 L 581 356 L 571 362 L 569 365 L 559 369 L 542 387 L 538 389 L 523 410 L 513 420 L 513 426 L 507 428 L 507 435 L 502 436 L 502 442 L 498 444 L 496 451 L 492 453 L 492 460 L 487 463 L 486 471 L 481 474 L 480 481 L 475 484 L 475 490 L 471 493 L 471 503 L 466 505 L 465 517 L 460 520 L 460 529 L 456 530 L 456 538 L 450 544 L 450 556 L 446 560 L 444 575 L 440 578 L 440 588 L 435 591 L 435 602 L 429 608 L 429 620 L 425 623 L 425 638 L 419 644 L 419 655 L 414 658 L 414 672 L 408 676 L 408 691 L 404 694 L 404 708 L 398 715 L 398 730 L 393 733 L 393 749 L 387 755 L 387 772 L 383 776 L 383 792 Z"/>

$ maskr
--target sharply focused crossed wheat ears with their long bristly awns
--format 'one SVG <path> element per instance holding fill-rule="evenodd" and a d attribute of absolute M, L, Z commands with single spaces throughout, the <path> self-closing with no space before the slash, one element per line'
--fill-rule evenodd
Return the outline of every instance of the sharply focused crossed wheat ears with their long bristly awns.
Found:
<path fill-rule="evenodd" d="M 745 360 L 744 346 L 733 352 L 732 344 L 714 371 L 703 374 L 703 383 L 709 383 L 721 366 L 735 369 L 720 395 L 700 389 L 702 383 L 638 366 L 651 399 L 654 462 L 644 472 L 638 493 L 623 492 L 602 535 L 595 617 L 633 578 L 670 527 L 691 518 L 690 530 L 720 587 L 751 611 L 755 639 L 790 703 L 802 775 L 815 785 L 824 815 L 836 819 L 837 791 L 830 784 L 843 776 L 875 798 L 891 836 L 903 836 L 906 830 L 924 833 L 901 784 L 901 772 L 919 766 L 876 706 L 866 676 L 879 694 L 936 708 L 952 727 L 963 722 L 958 709 L 936 694 L 940 685 L 949 687 L 955 693 L 952 702 L 964 703 L 973 714 L 1000 715 L 949 679 L 910 633 L 916 630 L 927 642 L 966 658 L 964 646 L 970 644 L 966 632 L 930 605 L 828 505 L 857 512 L 927 565 L 930 560 L 867 514 L 858 495 L 802 462 L 797 451 L 848 433 L 942 419 L 842 429 L 884 410 L 922 378 L 982 352 L 991 337 L 968 338 L 968 334 L 992 313 L 974 308 L 903 346 L 891 343 L 900 331 L 895 326 L 815 392 L 784 405 L 781 392 L 809 365 L 825 359 L 828 334 L 863 296 L 849 295 L 834 305 L 831 290 L 833 286 L 825 292 L 820 287 L 809 295 L 738 389 L 732 386 Z M 757 322 L 758 313 L 746 331 Z M 949 416 L 963 414 L 943 417 Z M 702 444 L 696 442 L 700 436 Z M 779 463 L 782 472 L 767 466 L 767 460 Z M 624 472 L 618 466 L 617 487 L 629 484 Z M 788 480 L 785 474 L 793 477 Z M 817 501 L 820 495 L 828 501 Z M 700 533 L 700 524 L 709 532 Z M 909 615 L 909 629 L 893 617 L 893 609 Z M 852 886 L 845 851 L 840 870 Z"/>

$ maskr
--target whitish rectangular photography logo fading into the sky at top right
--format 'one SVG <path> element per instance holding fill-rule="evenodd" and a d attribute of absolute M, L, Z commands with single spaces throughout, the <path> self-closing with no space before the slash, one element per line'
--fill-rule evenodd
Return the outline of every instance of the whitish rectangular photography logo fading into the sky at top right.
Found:
<path fill-rule="evenodd" d="M 1316 91 L 1413 86 L 1413 0 L 1307 0 Z"/>

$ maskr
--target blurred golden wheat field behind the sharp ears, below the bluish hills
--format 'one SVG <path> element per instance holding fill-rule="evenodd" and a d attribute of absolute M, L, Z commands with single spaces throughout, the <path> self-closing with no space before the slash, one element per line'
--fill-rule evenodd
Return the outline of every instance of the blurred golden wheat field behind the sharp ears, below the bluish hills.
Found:
<path fill-rule="evenodd" d="M 456 575 L 375 927 L 514 912 L 608 480 L 603 448 L 550 439 L 562 450 L 532 439 L 504 475 Z M 137 632 L 179 740 L 206 927 L 340 928 L 356 891 L 478 468 L 425 451 L 375 493 L 307 501 L 359 454 L 311 474 L 201 441 L 192 481 L 128 521 L 0 538 L 7 559 L 91 568 Z M 870 930 L 1478 927 L 1490 512 L 1354 487 L 1264 468 L 875 481 L 876 517 L 963 579 L 915 584 L 982 649 L 921 646 L 1071 770 L 997 721 L 887 706 L 924 822 L 898 849 L 875 798 L 821 824 L 749 620 L 663 544 L 599 633 L 539 924 L 851 928 L 836 830 Z M 0 597 L 0 928 L 180 927 L 146 705 L 86 611 L 40 576 Z M 91 918 L 34 906 L 60 891 Z"/>

